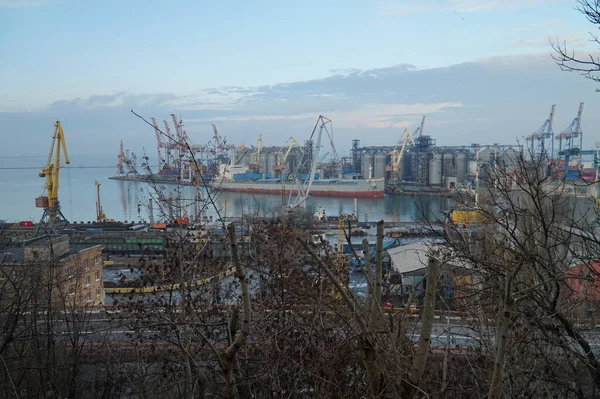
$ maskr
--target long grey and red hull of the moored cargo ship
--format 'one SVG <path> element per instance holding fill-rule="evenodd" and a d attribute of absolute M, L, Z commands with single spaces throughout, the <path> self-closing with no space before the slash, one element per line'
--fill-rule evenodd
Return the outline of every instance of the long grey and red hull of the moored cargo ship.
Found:
<path fill-rule="evenodd" d="M 213 184 L 216 191 L 255 193 L 255 194 L 297 194 L 298 188 L 281 182 L 264 181 L 220 181 Z M 383 181 L 348 180 L 333 183 L 316 181 L 310 188 L 310 195 L 315 197 L 352 197 L 352 198 L 381 198 L 385 194 Z"/>

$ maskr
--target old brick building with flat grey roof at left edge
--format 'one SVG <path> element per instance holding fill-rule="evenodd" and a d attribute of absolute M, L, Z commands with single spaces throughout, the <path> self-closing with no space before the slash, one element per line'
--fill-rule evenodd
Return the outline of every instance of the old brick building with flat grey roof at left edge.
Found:
<path fill-rule="evenodd" d="M 102 247 L 76 250 L 69 236 L 37 237 L 0 251 L 3 279 L 26 281 L 40 295 L 47 295 L 57 309 L 104 304 Z M 10 285 L 8 285 L 10 286 Z"/>

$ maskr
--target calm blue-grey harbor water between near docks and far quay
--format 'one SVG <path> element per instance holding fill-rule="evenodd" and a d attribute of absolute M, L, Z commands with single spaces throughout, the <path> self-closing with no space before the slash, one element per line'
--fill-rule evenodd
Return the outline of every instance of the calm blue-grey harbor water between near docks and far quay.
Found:
<path fill-rule="evenodd" d="M 39 171 L 47 158 L 6 157 L 0 158 L 0 219 L 6 221 L 39 221 L 42 210 L 34 200 L 43 192 L 43 178 Z M 59 199 L 62 211 L 70 221 L 93 221 L 96 218 L 96 186 L 100 186 L 101 205 L 106 216 L 119 221 L 149 221 L 149 203 L 153 203 L 153 216 L 163 220 L 169 212 L 161 206 L 161 198 L 179 198 L 182 207 L 192 216 L 194 188 L 190 186 L 158 185 L 143 182 L 116 181 L 116 159 L 91 156 L 71 158 L 69 168 L 61 168 Z M 82 167 L 83 166 L 83 167 Z M 161 194 L 158 195 L 157 192 Z M 203 192 L 206 198 L 206 192 Z M 288 198 L 278 195 L 249 193 L 212 193 L 214 206 L 206 208 L 206 216 L 216 218 L 253 215 L 272 216 L 286 205 Z M 389 222 L 434 221 L 443 217 L 449 208 L 449 199 L 386 195 L 384 198 L 329 198 L 309 197 L 306 208 L 315 213 L 319 207 L 326 215 L 355 214 L 360 221 L 385 220 Z M 162 204 L 164 205 L 164 204 Z"/>

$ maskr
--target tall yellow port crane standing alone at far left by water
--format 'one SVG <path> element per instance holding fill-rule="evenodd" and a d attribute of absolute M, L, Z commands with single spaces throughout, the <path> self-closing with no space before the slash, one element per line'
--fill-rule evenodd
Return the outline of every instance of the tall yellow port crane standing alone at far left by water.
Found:
<path fill-rule="evenodd" d="M 60 169 L 60 153 L 65 155 L 65 164 L 69 164 L 69 154 L 67 153 L 67 145 L 65 144 L 65 134 L 63 132 L 60 121 L 54 124 L 54 135 L 52 136 L 52 145 L 48 155 L 48 164 L 39 173 L 40 177 L 46 178 L 44 191 L 46 196 L 42 195 L 35 199 L 37 208 L 44 208 L 44 214 L 40 223 L 49 222 L 55 223 L 60 220 L 67 221 L 67 218 L 60 210 L 60 202 L 58 201 L 58 176 Z M 52 159 L 54 155 L 54 159 Z"/>

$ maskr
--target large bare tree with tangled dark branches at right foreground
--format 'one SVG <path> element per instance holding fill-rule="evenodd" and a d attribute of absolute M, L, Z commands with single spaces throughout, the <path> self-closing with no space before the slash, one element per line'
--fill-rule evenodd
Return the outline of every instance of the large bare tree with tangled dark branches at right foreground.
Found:
<path fill-rule="evenodd" d="M 540 389 L 587 396 L 600 388 L 600 364 L 593 338 L 573 322 L 568 276 L 600 256 L 595 200 L 576 196 L 545 157 L 520 153 L 484 169 L 479 201 L 463 204 L 477 228 L 450 224 L 447 243 L 472 270 L 481 324 L 496 320 L 486 338 L 489 397 Z"/>

